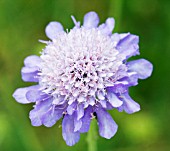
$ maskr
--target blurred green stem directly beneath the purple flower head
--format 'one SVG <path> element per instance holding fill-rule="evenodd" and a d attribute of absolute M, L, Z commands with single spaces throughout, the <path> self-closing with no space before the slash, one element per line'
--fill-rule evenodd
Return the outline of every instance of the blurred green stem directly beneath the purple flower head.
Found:
<path fill-rule="evenodd" d="M 87 144 L 88 151 L 97 151 L 97 132 L 96 132 L 97 122 L 95 119 L 92 119 L 90 130 L 87 134 Z"/>

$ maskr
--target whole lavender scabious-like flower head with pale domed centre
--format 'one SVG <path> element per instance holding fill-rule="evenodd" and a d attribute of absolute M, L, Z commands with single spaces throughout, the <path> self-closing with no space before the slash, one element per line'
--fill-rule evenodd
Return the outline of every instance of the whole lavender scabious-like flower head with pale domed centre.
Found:
<path fill-rule="evenodd" d="M 50 41 L 40 56 L 28 56 L 21 70 L 26 82 L 37 85 L 18 88 L 17 102 L 35 103 L 30 111 L 33 126 L 53 126 L 62 118 L 62 135 L 67 145 L 79 141 L 96 117 L 99 134 L 107 139 L 117 131 L 117 124 L 107 110 L 129 114 L 140 110 L 128 94 L 138 79 L 152 73 L 145 59 L 128 61 L 139 54 L 139 38 L 130 33 L 114 33 L 115 21 L 108 18 L 99 24 L 95 12 L 84 16 L 83 25 L 72 16 L 74 28 L 67 32 L 59 22 L 46 27 Z"/>

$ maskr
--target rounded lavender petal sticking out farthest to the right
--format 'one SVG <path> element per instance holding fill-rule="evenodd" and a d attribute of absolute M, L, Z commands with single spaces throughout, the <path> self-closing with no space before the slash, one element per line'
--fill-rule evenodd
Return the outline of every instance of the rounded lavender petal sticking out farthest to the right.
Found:
<path fill-rule="evenodd" d="M 138 59 L 127 63 L 128 71 L 136 72 L 139 79 L 146 79 L 152 74 L 153 66 L 145 59 Z"/>

